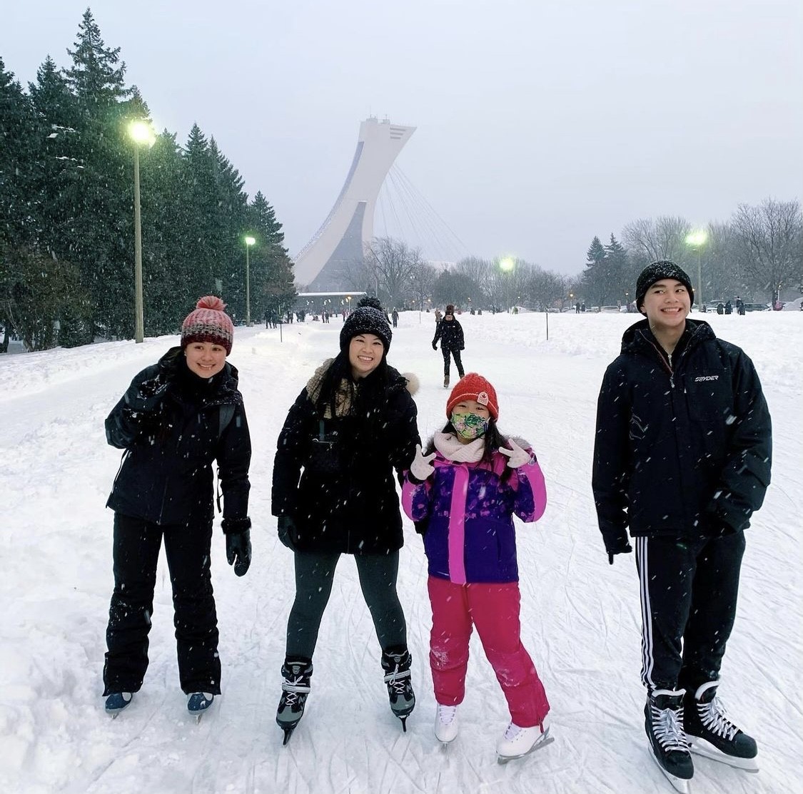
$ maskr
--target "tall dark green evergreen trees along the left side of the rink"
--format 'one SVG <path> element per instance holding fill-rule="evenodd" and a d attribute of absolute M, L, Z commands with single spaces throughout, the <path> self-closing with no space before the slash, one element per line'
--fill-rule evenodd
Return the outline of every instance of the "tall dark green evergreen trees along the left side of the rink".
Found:
<path fill-rule="evenodd" d="M 0 326 L 28 350 L 132 338 L 134 142 L 149 121 L 86 10 L 71 64 L 50 55 L 26 88 L 0 58 Z M 145 335 L 177 332 L 202 295 L 235 321 L 286 311 L 296 297 L 282 225 L 197 124 L 183 145 L 164 130 L 140 150 Z"/>

